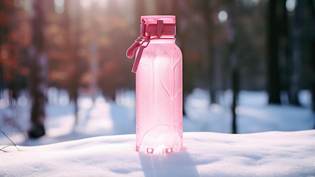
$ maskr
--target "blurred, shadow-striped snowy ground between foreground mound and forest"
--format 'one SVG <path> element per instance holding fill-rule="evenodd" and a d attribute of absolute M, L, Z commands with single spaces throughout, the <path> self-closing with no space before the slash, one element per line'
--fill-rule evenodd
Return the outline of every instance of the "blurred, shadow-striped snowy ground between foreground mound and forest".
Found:
<path fill-rule="evenodd" d="M 7 132 L 19 145 L 32 146 L 95 136 L 135 134 L 134 91 L 118 90 L 115 102 L 100 95 L 96 95 L 93 101 L 91 95 L 82 94 L 78 99 L 78 124 L 74 126 L 74 104 L 69 101 L 67 92 L 50 88 L 47 94 L 46 136 L 36 141 L 25 141 L 25 135 L 18 133 L 17 127 L 21 132 L 27 130 L 30 104 L 25 94 L 21 95 L 15 109 L 0 109 L 0 130 Z M 187 116 L 183 119 L 183 131 L 231 133 L 232 93 L 218 93 L 218 98 L 219 104 L 209 105 L 209 94 L 206 90 L 195 89 L 188 95 L 184 104 Z M 299 100 L 302 104 L 300 107 L 268 105 L 266 92 L 242 91 L 236 109 L 238 133 L 313 129 L 315 114 L 310 108 L 310 92 L 301 91 Z M 10 141 L 0 134 L 0 144 L 8 143 Z"/>

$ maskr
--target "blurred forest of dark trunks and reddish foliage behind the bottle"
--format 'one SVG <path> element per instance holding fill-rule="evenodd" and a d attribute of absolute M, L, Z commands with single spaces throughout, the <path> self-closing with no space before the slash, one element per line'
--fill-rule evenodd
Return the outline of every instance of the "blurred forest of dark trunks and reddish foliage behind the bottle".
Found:
<path fill-rule="evenodd" d="M 12 106 L 27 91 L 29 136 L 40 137 L 48 88 L 67 90 L 74 102 L 82 92 L 115 100 L 117 89 L 135 89 L 125 53 L 139 36 L 140 16 L 176 15 L 184 96 L 208 89 L 217 103 L 232 89 L 234 110 L 240 90 L 299 105 L 306 89 L 314 103 L 314 9 L 313 0 L 1 0 L 0 99 L 9 90 Z"/>

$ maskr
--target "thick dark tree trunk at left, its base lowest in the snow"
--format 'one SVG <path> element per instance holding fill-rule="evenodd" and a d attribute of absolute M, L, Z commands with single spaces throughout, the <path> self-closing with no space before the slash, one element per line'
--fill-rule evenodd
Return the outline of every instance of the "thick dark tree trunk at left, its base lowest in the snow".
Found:
<path fill-rule="evenodd" d="M 34 0 L 34 15 L 32 19 L 33 44 L 30 48 L 31 55 L 31 96 L 33 104 L 31 109 L 31 129 L 28 132 L 30 138 L 39 138 L 45 135 L 45 75 L 46 56 L 44 53 L 44 12 L 43 1 Z"/>

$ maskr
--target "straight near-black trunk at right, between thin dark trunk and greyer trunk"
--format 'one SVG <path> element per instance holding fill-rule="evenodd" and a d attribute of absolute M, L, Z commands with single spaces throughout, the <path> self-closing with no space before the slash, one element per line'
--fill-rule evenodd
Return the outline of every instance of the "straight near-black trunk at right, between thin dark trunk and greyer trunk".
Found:
<path fill-rule="evenodd" d="M 280 104 L 280 74 L 278 66 L 278 25 L 277 25 L 277 2 L 269 1 L 268 16 L 268 93 L 269 103 Z"/>

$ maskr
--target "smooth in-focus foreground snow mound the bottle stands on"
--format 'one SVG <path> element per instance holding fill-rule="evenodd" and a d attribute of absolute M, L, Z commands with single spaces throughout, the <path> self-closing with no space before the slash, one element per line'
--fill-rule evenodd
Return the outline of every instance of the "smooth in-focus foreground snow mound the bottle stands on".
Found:
<path fill-rule="evenodd" d="M 185 132 L 184 151 L 135 151 L 115 135 L 2 153 L 0 176 L 315 176 L 315 130 L 222 134 Z"/>

